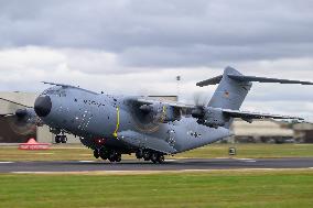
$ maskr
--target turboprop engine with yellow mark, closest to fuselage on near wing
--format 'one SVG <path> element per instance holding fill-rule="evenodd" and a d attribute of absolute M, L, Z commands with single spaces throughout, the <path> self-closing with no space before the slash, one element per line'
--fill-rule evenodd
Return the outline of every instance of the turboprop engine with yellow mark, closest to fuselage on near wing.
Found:
<path fill-rule="evenodd" d="M 168 123 L 181 119 L 181 110 L 169 105 L 143 105 L 140 110 L 147 113 L 154 123 Z"/>

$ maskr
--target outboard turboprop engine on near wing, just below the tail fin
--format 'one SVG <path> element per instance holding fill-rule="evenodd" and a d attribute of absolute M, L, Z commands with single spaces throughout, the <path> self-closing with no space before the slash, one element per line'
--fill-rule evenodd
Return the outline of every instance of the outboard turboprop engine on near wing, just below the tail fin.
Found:
<path fill-rule="evenodd" d="M 211 128 L 224 127 L 229 121 L 222 109 L 212 107 L 197 107 L 192 110 L 192 117 L 197 119 L 197 123 Z"/>

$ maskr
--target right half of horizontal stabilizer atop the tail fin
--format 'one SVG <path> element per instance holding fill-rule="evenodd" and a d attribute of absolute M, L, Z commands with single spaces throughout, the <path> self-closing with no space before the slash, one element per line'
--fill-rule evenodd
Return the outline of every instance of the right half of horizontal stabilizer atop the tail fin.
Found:
<path fill-rule="evenodd" d="M 258 81 L 258 83 L 280 83 L 280 84 L 300 84 L 300 85 L 313 85 L 310 81 L 290 80 L 290 79 L 277 79 L 256 76 L 242 76 L 242 75 L 227 75 L 229 78 L 237 81 Z"/>

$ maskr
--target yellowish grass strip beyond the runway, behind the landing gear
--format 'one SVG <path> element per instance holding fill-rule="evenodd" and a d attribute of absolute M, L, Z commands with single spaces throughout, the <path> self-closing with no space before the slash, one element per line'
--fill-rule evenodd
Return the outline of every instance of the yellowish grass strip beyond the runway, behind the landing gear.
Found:
<path fill-rule="evenodd" d="M 212 144 L 175 157 L 228 157 L 228 147 L 237 147 L 236 157 L 313 157 L 313 144 Z M 171 156 L 168 156 L 171 157 Z M 123 158 L 134 156 L 123 155 Z M 53 145 L 46 151 L 21 151 L 17 146 L 0 146 L 0 161 L 72 161 L 96 160 L 89 149 L 83 145 Z"/>

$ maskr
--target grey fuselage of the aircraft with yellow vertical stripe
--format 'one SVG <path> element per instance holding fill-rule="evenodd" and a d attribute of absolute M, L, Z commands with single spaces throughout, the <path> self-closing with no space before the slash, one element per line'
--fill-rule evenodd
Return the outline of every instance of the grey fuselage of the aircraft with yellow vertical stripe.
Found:
<path fill-rule="evenodd" d="M 39 98 L 48 97 L 51 109 L 39 114 L 51 129 L 79 136 L 90 149 L 101 145 L 131 153 L 138 149 L 151 149 L 175 154 L 196 149 L 230 135 L 227 128 L 208 128 L 192 117 L 177 121 L 155 123 L 140 117 L 139 97 L 96 94 L 75 87 L 55 86 Z M 36 108 L 36 106 L 35 106 Z"/>

